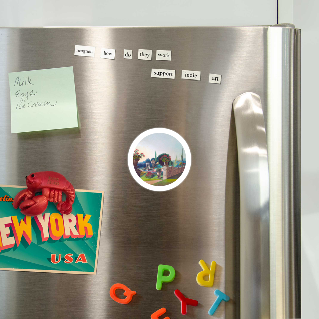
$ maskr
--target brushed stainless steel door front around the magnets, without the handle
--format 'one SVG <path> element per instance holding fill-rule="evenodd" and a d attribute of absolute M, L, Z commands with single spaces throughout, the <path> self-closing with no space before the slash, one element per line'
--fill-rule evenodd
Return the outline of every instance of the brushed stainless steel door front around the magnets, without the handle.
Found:
<path fill-rule="evenodd" d="M 258 94 L 266 129 L 272 129 L 276 118 L 269 112 L 274 96 L 270 29 L 278 38 L 289 34 L 278 41 L 289 41 L 295 50 L 292 72 L 298 83 L 300 31 L 291 28 L 1 29 L 0 183 L 22 185 L 29 172 L 53 170 L 77 189 L 105 191 L 97 275 L 1 271 L 1 316 L 133 319 L 149 318 L 165 307 L 174 318 L 181 316 L 175 289 L 200 302 L 188 308 L 190 318 L 208 316 L 215 289 L 230 296 L 215 317 L 240 316 L 239 178 L 232 102 L 244 92 Z M 74 56 L 76 44 L 95 46 L 95 58 Z M 101 48 L 116 49 L 115 60 L 101 59 Z M 152 61 L 138 60 L 139 48 L 152 49 Z M 123 59 L 123 49 L 133 50 L 132 60 Z M 156 49 L 172 50 L 172 61 L 155 60 Z M 80 127 L 11 134 L 8 72 L 64 66 L 74 68 Z M 174 69 L 176 78 L 151 78 L 152 68 Z M 201 71 L 201 81 L 181 79 L 182 69 Z M 222 74 L 221 84 L 208 83 L 209 73 Z M 298 123 L 297 91 L 293 98 L 292 122 L 285 128 L 275 124 L 277 131 L 288 130 L 285 138 L 293 134 L 291 123 Z M 156 127 L 179 133 L 192 154 L 187 178 L 167 192 L 142 188 L 127 167 L 135 137 Z M 293 148 L 287 145 L 294 150 L 291 156 L 299 147 L 298 133 L 293 143 Z M 273 151 L 269 156 L 275 156 Z M 288 185 L 289 194 L 294 192 L 298 202 L 298 163 L 290 167 L 296 178 Z M 271 194 L 271 166 L 269 173 Z M 211 289 L 196 283 L 200 259 L 217 262 Z M 155 288 L 158 264 L 176 269 L 174 282 L 161 291 Z M 130 304 L 119 305 L 109 297 L 116 282 L 137 292 Z M 294 287 L 298 290 L 298 280 Z"/>

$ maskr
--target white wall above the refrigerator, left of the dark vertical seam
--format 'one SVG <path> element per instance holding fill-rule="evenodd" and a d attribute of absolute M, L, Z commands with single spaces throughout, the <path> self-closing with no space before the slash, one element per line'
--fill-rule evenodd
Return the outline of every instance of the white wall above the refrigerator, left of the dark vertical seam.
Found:
<path fill-rule="evenodd" d="M 275 23 L 276 0 L 0 0 L 0 26 L 214 26 Z"/>

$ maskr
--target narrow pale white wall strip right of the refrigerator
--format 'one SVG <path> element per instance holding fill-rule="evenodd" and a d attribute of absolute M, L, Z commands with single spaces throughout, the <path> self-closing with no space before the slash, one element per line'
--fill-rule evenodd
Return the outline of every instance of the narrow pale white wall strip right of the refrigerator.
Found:
<path fill-rule="evenodd" d="M 318 18 L 318 0 L 293 0 L 293 23 L 301 29 L 302 318 L 319 316 Z"/>

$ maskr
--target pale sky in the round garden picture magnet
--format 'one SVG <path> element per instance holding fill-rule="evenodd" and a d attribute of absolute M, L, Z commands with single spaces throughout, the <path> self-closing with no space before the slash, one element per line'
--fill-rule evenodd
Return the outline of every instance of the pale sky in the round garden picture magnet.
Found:
<path fill-rule="evenodd" d="M 144 153 L 145 157 L 141 158 L 140 162 L 147 158 L 150 160 L 162 153 L 167 153 L 171 156 L 172 161 L 182 156 L 182 144 L 173 136 L 165 133 L 154 133 L 144 137 L 135 147 L 139 153 Z M 183 159 L 186 158 L 185 150 L 183 149 Z"/>

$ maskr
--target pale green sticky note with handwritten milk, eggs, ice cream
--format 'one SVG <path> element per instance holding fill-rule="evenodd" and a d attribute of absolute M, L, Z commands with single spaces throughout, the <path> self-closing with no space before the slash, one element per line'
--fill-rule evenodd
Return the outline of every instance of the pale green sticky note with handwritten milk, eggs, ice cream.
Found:
<path fill-rule="evenodd" d="M 11 133 L 74 128 L 73 67 L 9 73 Z"/>

